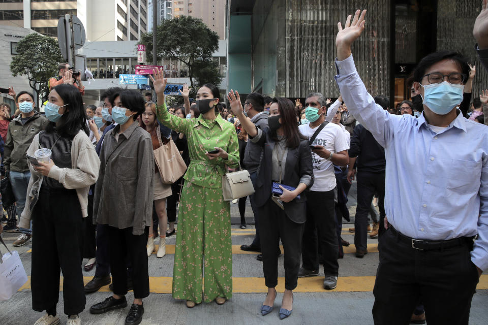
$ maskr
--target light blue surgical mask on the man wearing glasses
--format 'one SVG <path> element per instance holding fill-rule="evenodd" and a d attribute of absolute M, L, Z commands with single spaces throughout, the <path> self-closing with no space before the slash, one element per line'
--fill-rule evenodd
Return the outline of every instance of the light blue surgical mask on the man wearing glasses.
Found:
<path fill-rule="evenodd" d="M 464 85 L 453 85 L 447 81 L 422 85 L 423 104 L 439 115 L 446 115 L 463 101 Z"/>

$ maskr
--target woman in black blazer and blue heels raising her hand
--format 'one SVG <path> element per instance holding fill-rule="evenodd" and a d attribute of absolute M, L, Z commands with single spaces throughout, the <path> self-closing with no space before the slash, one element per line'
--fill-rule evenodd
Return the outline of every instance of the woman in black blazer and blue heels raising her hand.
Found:
<path fill-rule="evenodd" d="M 291 314 L 293 289 L 298 280 L 300 268 L 301 238 L 306 220 L 306 196 L 303 192 L 314 182 L 312 155 L 309 143 L 301 136 L 296 122 L 293 103 L 286 98 L 275 98 L 269 108 L 269 127 L 261 130 L 242 111 L 239 93 L 229 92 L 227 96 L 232 111 L 247 131 L 250 141 L 263 147 L 263 157 L 258 170 L 258 181 L 254 197 L 259 215 L 263 273 L 268 294 L 261 306 L 262 315 L 271 312 L 276 299 L 278 284 L 278 255 L 280 239 L 285 255 L 285 292 L 283 294 L 280 318 Z M 273 182 L 292 186 L 287 190 L 280 185 L 283 194 L 279 197 L 283 209 L 273 201 Z M 299 196 L 299 198 L 298 198 Z"/>

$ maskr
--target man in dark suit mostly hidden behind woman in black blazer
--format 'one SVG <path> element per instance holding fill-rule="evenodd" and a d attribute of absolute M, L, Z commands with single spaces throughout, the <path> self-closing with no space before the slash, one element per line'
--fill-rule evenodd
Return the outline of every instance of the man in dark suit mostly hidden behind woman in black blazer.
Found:
<path fill-rule="evenodd" d="M 258 92 L 252 92 L 246 97 L 246 102 L 244 103 L 244 111 L 251 118 L 251 122 L 256 124 L 260 129 L 265 129 L 268 127 L 268 115 L 264 113 L 264 98 Z M 256 187 L 257 171 L 259 169 L 259 164 L 261 163 L 263 149 L 261 146 L 248 141 L 246 145 L 246 150 L 244 151 L 244 165 L 251 175 L 251 181 L 253 186 Z M 254 201 L 254 195 L 249 197 L 251 202 L 251 208 L 254 213 L 254 223 L 256 226 L 256 236 L 251 245 L 241 245 L 240 249 L 245 251 L 257 251 L 261 252 L 261 241 L 259 239 L 259 217 L 256 210 L 256 203 Z M 258 261 L 262 261 L 262 255 L 257 256 Z"/>

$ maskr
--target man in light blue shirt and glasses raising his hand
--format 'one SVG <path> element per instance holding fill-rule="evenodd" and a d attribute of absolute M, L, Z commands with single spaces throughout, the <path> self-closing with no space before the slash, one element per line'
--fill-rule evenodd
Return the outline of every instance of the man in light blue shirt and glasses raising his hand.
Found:
<path fill-rule="evenodd" d="M 335 79 L 351 114 L 385 148 L 389 225 L 378 247 L 373 318 L 408 323 L 421 299 L 428 322 L 467 324 L 488 268 L 488 128 L 455 108 L 469 67 L 454 52 L 424 57 L 414 72 L 424 111 L 418 119 L 391 115 L 368 94 L 351 55 L 364 15 L 338 24 Z"/>

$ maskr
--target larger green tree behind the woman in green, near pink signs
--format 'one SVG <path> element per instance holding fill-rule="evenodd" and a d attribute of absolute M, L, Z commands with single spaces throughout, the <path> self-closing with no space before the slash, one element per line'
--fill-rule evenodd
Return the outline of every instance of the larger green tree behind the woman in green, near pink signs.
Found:
<path fill-rule="evenodd" d="M 193 78 L 198 83 L 219 84 L 222 80 L 218 64 L 212 61 L 212 54 L 219 48 L 219 36 L 201 19 L 181 16 L 164 20 L 157 27 L 157 39 L 158 60 L 171 58 L 188 66 L 192 93 L 196 92 Z M 146 45 L 147 60 L 153 61 L 153 33 L 142 34 L 139 44 Z"/>

